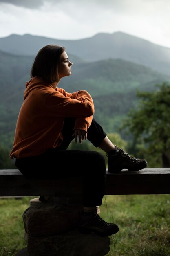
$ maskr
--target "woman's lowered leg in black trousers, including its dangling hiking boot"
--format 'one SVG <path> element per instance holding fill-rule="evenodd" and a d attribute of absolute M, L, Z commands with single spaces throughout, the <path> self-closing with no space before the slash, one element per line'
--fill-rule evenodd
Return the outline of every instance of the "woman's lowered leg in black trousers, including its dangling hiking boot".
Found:
<path fill-rule="evenodd" d="M 119 231 L 114 223 L 107 223 L 99 216 L 97 207 L 102 204 L 105 189 L 106 164 L 104 157 L 96 151 L 61 150 L 73 140 L 71 120 L 65 121 L 62 130 L 62 145 L 36 157 L 16 160 L 16 166 L 26 177 L 60 178 L 65 176 L 82 177 L 83 207 L 80 213 L 79 231 L 95 232 L 99 236 L 110 236 Z M 93 136 L 93 134 L 92 134 Z M 104 138 L 106 135 L 102 135 Z M 97 138 L 96 138 L 97 139 Z M 101 138 L 100 138 L 101 139 Z"/>

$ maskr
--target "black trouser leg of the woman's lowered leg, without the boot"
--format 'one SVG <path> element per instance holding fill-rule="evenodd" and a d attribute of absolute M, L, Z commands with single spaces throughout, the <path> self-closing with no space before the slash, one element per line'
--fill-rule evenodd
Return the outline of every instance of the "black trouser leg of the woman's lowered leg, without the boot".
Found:
<path fill-rule="evenodd" d="M 102 204 L 106 164 L 96 151 L 54 149 L 36 157 L 17 159 L 15 165 L 27 178 L 82 177 L 83 205 Z"/>

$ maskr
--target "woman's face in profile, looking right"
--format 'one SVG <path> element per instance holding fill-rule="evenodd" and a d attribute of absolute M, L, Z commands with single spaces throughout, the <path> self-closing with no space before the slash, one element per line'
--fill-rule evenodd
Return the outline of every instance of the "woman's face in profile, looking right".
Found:
<path fill-rule="evenodd" d="M 59 79 L 61 79 L 64 76 L 71 75 L 71 65 L 73 65 L 73 63 L 68 61 L 68 56 L 66 52 L 63 52 L 60 55 L 60 65 L 58 67 Z"/>

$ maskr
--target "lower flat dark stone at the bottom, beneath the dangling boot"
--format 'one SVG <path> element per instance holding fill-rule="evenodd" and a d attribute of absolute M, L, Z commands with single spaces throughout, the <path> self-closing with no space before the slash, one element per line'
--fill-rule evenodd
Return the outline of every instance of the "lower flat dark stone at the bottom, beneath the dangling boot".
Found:
<path fill-rule="evenodd" d="M 27 248 L 29 256 L 104 256 L 110 251 L 110 238 L 75 229 L 50 237 L 28 236 Z"/>

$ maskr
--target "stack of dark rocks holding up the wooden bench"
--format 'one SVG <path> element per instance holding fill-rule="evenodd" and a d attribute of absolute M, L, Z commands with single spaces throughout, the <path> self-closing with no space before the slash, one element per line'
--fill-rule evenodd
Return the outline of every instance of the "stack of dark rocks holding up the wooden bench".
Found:
<path fill-rule="evenodd" d="M 30 200 L 30 207 L 23 213 L 29 256 L 104 256 L 110 251 L 108 236 L 81 234 L 77 230 L 82 204 L 72 203 L 75 198 Z"/>

